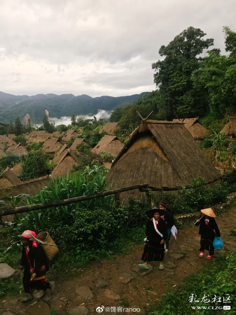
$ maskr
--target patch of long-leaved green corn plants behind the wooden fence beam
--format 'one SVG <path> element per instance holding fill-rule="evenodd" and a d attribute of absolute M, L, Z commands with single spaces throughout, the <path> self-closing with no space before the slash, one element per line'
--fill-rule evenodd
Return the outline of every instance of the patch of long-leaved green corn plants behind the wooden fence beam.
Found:
<path fill-rule="evenodd" d="M 106 180 L 107 170 L 103 166 L 93 165 L 69 176 L 53 178 L 52 182 L 37 193 L 35 197 L 25 195 L 22 202 L 28 205 L 55 202 L 79 196 L 97 194 L 109 190 Z M 72 203 L 65 206 L 30 211 L 27 215 L 18 214 L 15 233 L 20 234 L 24 229 L 33 229 L 40 232 L 47 227 L 53 228 L 61 225 L 71 225 L 76 220 L 77 210 L 80 208 L 94 209 L 102 207 L 107 209 L 114 204 L 113 195 Z"/>

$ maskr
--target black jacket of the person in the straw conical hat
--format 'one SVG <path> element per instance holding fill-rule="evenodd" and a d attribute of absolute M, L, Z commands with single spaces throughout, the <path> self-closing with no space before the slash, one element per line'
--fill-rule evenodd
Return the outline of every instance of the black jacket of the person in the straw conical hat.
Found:
<path fill-rule="evenodd" d="M 201 218 L 202 216 L 200 216 Z M 198 220 L 200 220 L 200 218 Z M 209 239 L 214 240 L 215 236 L 220 237 L 221 233 L 219 231 L 218 225 L 214 218 L 209 218 L 209 223 L 206 225 L 205 223 L 205 215 L 203 218 L 195 224 L 196 226 L 199 226 L 199 234 L 201 235 L 201 238 L 203 239 Z"/>

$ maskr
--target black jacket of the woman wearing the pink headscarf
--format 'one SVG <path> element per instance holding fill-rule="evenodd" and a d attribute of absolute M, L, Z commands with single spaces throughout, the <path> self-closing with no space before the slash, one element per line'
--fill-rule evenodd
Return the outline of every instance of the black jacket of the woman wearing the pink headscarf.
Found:
<path fill-rule="evenodd" d="M 29 257 L 31 266 L 34 268 L 34 273 L 36 273 L 37 277 L 41 277 L 45 275 L 45 273 L 48 272 L 49 270 L 47 256 L 39 244 L 37 247 L 30 245 L 29 248 L 30 250 L 28 252 L 28 257 Z M 26 270 L 30 271 L 30 264 L 25 253 L 25 246 L 23 246 L 22 248 L 22 256 L 21 256 L 20 264 L 21 266 L 24 266 Z M 45 265 L 45 269 L 40 271 L 40 268 L 43 265 Z"/>

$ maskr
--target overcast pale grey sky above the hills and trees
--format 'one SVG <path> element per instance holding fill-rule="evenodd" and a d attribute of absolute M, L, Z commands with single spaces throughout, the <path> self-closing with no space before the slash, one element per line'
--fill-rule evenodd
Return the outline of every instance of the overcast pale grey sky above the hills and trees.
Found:
<path fill-rule="evenodd" d="M 224 49 L 235 0 L 0 0 L 0 91 L 151 91 L 158 50 L 188 26 Z"/>

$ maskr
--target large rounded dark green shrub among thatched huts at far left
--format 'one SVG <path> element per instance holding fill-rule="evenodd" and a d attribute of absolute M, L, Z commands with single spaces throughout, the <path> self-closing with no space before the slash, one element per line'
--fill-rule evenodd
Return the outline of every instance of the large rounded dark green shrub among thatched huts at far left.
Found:
<path fill-rule="evenodd" d="M 29 152 L 21 157 L 21 180 L 31 180 L 48 172 L 50 169 L 48 154 L 42 150 Z"/>

